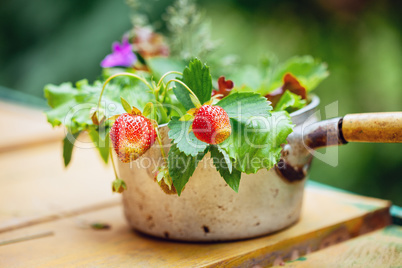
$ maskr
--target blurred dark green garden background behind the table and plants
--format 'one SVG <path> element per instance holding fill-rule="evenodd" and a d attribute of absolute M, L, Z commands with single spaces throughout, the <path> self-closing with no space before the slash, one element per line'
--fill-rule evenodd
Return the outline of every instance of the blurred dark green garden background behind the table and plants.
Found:
<path fill-rule="evenodd" d="M 142 2 L 157 20 L 172 1 Z M 267 53 L 282 61 L 310 54 L 327 62 L 331 75 L 315 90 L 321 107 L 338 101 L 340 116 L 402 110 L 401 1 L 199 5 L 211 21 L 212 37 L 244 63 L 255 64 Z M 98 78 L 112 42 L 131 28 L 130 14 L 123 0 L 1 1 L 0 97 L 42 105 L 47 83 Z M 342 146 L 338 166 L 316 160 L 311 179 L 402 205 L 402 145 Z"/>

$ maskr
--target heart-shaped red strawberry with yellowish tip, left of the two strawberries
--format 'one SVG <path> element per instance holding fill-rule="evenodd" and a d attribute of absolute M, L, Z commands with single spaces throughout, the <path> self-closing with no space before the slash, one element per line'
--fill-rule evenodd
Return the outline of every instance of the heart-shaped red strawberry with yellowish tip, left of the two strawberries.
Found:
<path fill-rule="evenodd" d="M 143 155 L 154 144 L 156 131 L 148 118 L 124 113 L 110 129 L 110 139 L 119 159 L 128 163 Z"/>

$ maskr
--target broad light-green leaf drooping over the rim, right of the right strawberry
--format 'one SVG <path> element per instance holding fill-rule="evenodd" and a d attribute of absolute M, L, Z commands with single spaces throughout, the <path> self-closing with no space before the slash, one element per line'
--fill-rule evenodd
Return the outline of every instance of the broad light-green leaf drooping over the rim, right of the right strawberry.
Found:
<path fill-rule="evenodd" d="M 234 161 L 236 169 L 247 174 L 262 168 L 272 168 L 280 158 L 281 144 L 292 132 L 288 113 L 273 112 L 263 120 L 261 117 L 238 121 L 231 118 L 232 134 L 220 144 Z"/>

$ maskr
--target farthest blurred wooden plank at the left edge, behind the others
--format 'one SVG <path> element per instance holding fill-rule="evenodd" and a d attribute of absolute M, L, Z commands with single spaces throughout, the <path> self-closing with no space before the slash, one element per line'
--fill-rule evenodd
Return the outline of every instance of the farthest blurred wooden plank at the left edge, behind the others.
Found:
<path fill-rule="evenodd" d="M 52 129 L 42 110 L 0 101 L 0 153 L 60 141 L 64 129 Z"/>

